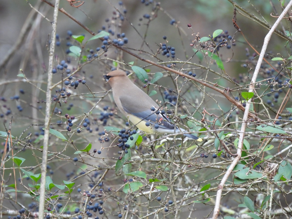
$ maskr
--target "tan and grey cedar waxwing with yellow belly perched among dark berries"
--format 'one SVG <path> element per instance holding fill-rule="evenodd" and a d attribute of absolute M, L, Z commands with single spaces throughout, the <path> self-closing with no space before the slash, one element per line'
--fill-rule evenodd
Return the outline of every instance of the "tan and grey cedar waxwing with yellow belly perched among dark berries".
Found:
<path fill-rule="evenodd" d="M 112 95 L 119 110 L 145 133 L 173 134 L 187 132 L 171 124 L 171 120 L 157 103 L 127 77 L 126 72 L 115 70 L 104 76 L 112 87 Z M 202 141 L 195 135 L 183 134 Z"/>

